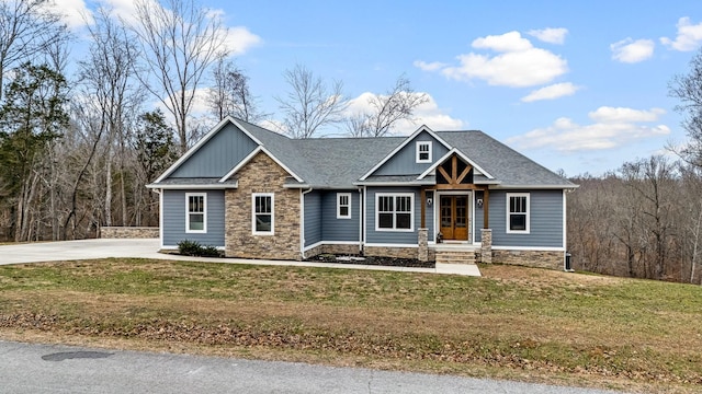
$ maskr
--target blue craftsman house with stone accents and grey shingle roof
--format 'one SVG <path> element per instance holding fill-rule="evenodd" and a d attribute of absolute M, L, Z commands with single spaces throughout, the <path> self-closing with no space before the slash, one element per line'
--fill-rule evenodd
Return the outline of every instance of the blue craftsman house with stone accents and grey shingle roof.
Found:
<path fill-rule="evenodd" d="M 161 248 L 321 253 L 562 268 L 576 185 L 482 131 L 290 139 L 227 118 L 149 188 Z"/>

